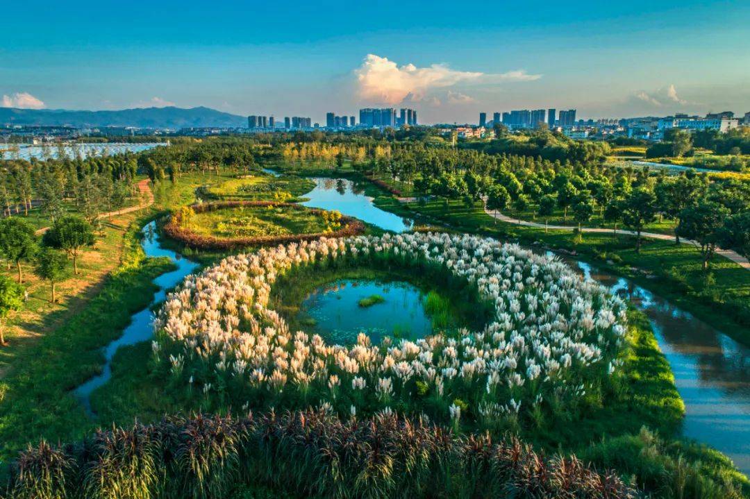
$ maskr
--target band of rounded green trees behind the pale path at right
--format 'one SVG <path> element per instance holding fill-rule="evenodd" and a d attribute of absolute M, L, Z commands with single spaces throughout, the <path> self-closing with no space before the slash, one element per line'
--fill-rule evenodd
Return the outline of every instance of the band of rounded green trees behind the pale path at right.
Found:
<path fill-rule="evenodd" d="M 640 234 L 666 217 L 675 224 L 676 242 L 697 242 L 703 267 L 717 247 L 750 253 L 750 183 L 738 178 L 712 180 L 692 171 L 655 175 L 649 169 L 620 169 L 600 163 L 550 161 L 541 157 L 490 155 L 450 148 L 404 145 L 374 163 L 374 172 L 413 184 L 417 196 L 463 200 L 467 207 L 486 199 L 493 211 L 532 211 L 549 220 L 562 211 L 563 223 L 581 226 L 595 214 Z"/>

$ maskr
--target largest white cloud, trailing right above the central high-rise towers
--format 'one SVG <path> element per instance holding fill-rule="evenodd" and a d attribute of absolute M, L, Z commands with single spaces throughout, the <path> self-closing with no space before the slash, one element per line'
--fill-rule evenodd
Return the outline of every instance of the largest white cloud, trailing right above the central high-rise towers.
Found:
<path fill-rule="evenodd" d="M 386 104 L 426 100 L 430 97 L 429 91 L 460 83 L 522 82 L 541 77 L 530 75 L 524 70 L 499 74 L 459 71 L 451 69 L 447 64 L 432 64 L 428 67 L 416 67 L 414 64 L 399 66 L 395 61 L 375 54 L 368 54 L 362 61 L 362 66 L 354 70 L 354 73 L 362 100 Z"/>

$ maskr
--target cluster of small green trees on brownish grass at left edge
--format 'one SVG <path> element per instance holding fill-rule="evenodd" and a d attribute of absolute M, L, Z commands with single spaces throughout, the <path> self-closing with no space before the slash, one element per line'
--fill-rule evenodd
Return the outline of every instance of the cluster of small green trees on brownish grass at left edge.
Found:
<path fill-rule="evenodd" d="M 95 242 L 94 229 L 85 219 L 76 216 L 55 220 L 40 238 L 34 227 L 20 217 L 0 220 L 0 257 L 7 267 L 17 267 L 17 282 L 0 275 L 0 345 L 5 342 L 5 320 L 10 312 L 20 309 L 28 297 L 23 287 L 23 265 L 32 264 L 34 273 L 49 282 L 52 303 L 57 296 L 55 286 L 69 274 L 69 260 L 74 273 L 79 273 L 78 258 L 83 248 Z"/>

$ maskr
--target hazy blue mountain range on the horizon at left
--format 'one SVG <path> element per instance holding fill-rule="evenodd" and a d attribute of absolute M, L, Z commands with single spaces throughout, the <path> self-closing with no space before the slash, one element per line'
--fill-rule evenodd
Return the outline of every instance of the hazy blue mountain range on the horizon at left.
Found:
<path fill-rule="evenodd" d="M 88 127 L 247 127 L 248 118 L 208 107 L 148 107 L 119 111 L 0 107 L 0 124 Z"/>

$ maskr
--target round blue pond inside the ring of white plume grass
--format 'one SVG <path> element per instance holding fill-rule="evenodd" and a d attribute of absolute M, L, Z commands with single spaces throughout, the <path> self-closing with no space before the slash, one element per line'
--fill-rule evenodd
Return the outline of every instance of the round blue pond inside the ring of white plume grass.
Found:
<path fill-rule="evenodd" d="M 383 302 L 360 306 L 359 300 L 378 295 Z M 300 318 L 312 318 L 306 327 L 326 342 L 351 345 L 365 332 L 373 343 L 383 336 L 417 339 L 432 333 L 432 321 L 425 312 L 425 294 L 407 282 L 371 279 L 340 279 L 308 294 L 300 307 Z"/>

